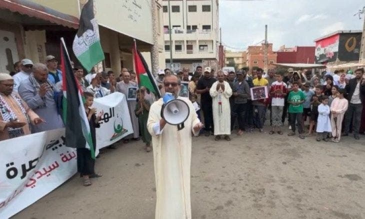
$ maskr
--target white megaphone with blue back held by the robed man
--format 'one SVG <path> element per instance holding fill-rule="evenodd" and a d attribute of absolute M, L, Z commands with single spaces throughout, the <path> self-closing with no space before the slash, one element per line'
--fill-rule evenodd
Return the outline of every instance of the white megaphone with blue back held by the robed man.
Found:
<path fill-rule="evenodd" d="M 189 116 L 189 106 L 181 99 L 175 99 L 172 93 L 165 93 L 161 108 L 161 117 L 168 124 L 177 125 L 177 130 L 184 128 L 184 121 Z"/>

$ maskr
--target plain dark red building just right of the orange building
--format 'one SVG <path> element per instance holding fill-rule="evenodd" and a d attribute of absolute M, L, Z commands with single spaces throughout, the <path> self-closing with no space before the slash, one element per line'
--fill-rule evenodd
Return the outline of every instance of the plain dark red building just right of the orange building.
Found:
<path fill-rule="evenodd" d="M 277 63 L 314 63 L 315 46 L 280 46 L 276 51 Z"/>

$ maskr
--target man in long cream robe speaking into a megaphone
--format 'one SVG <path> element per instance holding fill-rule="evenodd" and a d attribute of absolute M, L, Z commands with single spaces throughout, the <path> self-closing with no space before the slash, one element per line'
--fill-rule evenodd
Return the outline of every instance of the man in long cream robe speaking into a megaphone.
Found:
<path fill-rule="evenodd" d="M 180 91 L 180 81 L 175 75 L 166 76 L 165 92 L 175 97 Z M 177 97 L 189 106 L 189 116 L 184 128 L 167 124 L 161 117 L 163 100 L 155 101 L 150 109 L 147 128 L 152 136 L 154 176 L 156 183 L 156 219 L 191 218 L 190 209 L 190 160 L 191 131 L 199 133 L 202 124 L 194 106 L 187 98 Z"/>

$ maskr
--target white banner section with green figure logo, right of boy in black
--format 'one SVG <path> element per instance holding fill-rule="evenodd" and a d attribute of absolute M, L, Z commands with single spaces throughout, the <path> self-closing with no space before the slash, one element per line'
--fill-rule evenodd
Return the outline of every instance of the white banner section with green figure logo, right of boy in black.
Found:
<path fill-rule="evenodd" d="M 97 112 L 104 111 L 99 121 L 100 127 L 96 128 L 97 149 L 133 133 L 128 105 L 123 93 L 114 92 L 101 98 L 94 98 L 92 107 L 95 107 Z"/>

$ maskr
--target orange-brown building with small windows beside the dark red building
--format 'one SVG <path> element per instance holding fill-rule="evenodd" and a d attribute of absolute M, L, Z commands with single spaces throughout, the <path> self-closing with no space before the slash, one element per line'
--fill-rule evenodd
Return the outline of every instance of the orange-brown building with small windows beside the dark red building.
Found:
<path fill-rule="evenodd" d="M 246 52 L 247 60 L 246 66 L 252 71 L 253 67 L 264 68 L 264 57 L 265 57 L 265 44 L 261 45 L 250 45 Z M 277 54 L 272 51 L 272 43 L 267 43 L 267 68 L 274 68 L 276 63 Z"/>

